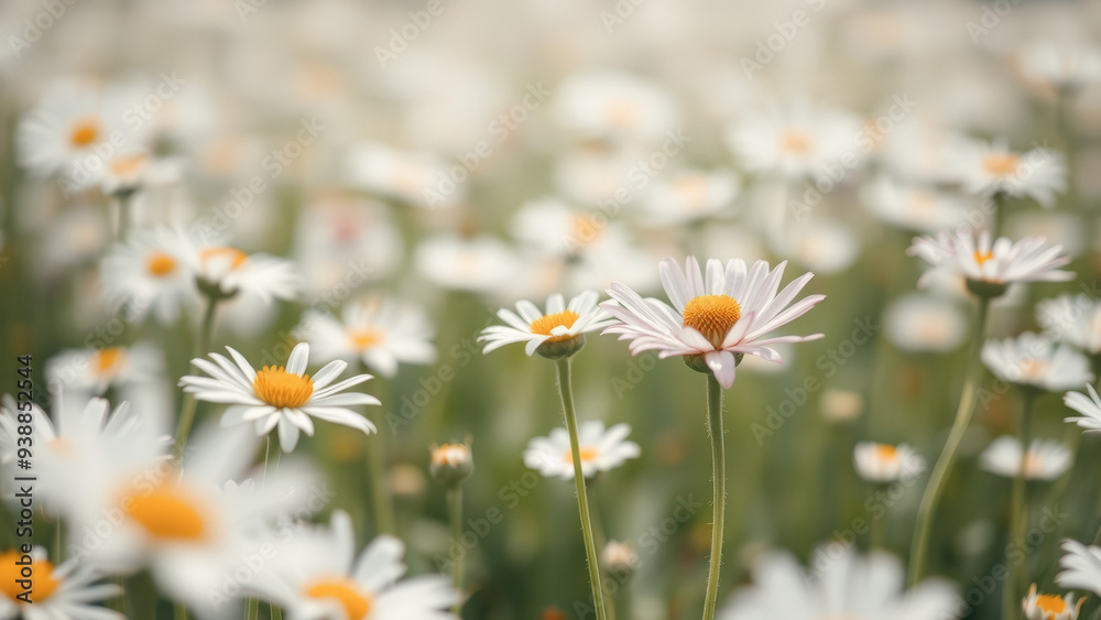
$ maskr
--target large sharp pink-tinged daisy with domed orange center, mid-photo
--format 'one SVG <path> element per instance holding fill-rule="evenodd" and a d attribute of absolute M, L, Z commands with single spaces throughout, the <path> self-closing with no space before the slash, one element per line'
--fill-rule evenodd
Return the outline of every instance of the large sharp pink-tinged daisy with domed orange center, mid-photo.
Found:
<path fill-rule="evenodd" d="M 613 283 L 608 291 L 612 301 L 600 305 L 621 323 L 603 333 L 631 340 L 630 349 L 635 355 L 657 350 L 661 358 L 685 356 L 694 369 L 709 369 L 723 388 L 730 388 L 741 356 L 781 362 L 771 345 L 824 337 L 766 337 L 826 298 L 809 295 L 792 304 L 813 273 L 800 275 L 777 294 L 786 265 L 785 261 L 771 269 L 766 261 L 756 261 L 748 268 L 745 261 L 735 259 L 723 267 L 710 259 L 705 274 L 695 257 L 685 260 L 684 271 L 673 259 L 665 259 L 658 271 L 673 307 L 658 300 L 644 300 L 623 284 Z"/>

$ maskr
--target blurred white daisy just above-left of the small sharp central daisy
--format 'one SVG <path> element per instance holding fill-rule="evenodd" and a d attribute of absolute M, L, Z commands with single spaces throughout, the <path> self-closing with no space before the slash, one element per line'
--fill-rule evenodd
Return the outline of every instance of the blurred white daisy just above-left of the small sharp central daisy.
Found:
<path fill-rule="evenodd" d="M 513 282 L 515 252 L 495 237 L 445 235 L 422 241 L 413 259 L 427 280 L 448 290 L 497 293 Z"/>

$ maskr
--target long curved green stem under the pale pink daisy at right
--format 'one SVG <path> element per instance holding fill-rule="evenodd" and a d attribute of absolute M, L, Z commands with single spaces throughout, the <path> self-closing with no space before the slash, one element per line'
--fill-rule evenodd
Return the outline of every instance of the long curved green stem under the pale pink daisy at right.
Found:
<path fill-rule="evenodd" d="M 922 580 L 922 575 L 925 572 L 925 559 L 929 548 L 929 531 L 933 525 L 933 516 L 937 511 L 945 480 L 948 478 L 948 472 L 956 460 L 956 453 L 959 450 L 960 442 L 963 440 L 963 434 L 967 433 L 968 424 L 971 422 L 971 414 L 974 413 L 974 404 L 979 395 L 979 383 L 982 377 L 980 353 L 982 351 L 983 337 L 986 333 L 986 317 L 989 314 L 990 297 L 979 297 L 974 334 L 971 341 L 971 351 L 968 355 L 967 368 L 963 371 L 963 391 L 960 392 L 960 402 L 956 410 L 956 421 L 952 423 L 952 429 L 948 434 L 945 449 L 940 453 L 940 457 L 933 468 L 933 474 L 929 476 L 929 483 L 925 487 L 922 503 L 917 509 L 917 523 L 914 527 L 914 542 L 911 545 L 909 556 L 911 587 L 916 586 Z"/>

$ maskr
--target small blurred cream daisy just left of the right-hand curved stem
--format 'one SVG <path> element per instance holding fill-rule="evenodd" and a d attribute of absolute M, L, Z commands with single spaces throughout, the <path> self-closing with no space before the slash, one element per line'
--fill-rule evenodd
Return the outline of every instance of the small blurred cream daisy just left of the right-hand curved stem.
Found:
<path fill-rule="evenodd" d="M 887 338 L 904 351 L 950 351 L 968 331 L 959 304 L 936 295 L 911 293 L 892 302 L 884 314 Z"/>

